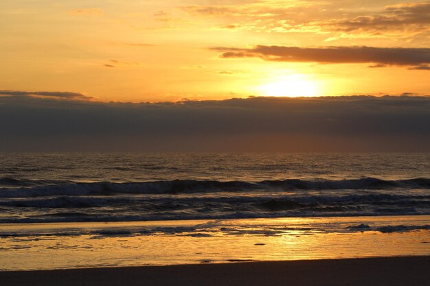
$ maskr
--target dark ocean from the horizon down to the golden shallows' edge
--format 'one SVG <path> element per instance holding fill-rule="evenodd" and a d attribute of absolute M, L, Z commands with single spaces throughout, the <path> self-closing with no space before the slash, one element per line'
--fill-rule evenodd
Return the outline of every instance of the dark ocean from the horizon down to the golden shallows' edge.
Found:
<path fill-rule="evenodd" d="M 430 154 L 1 154 L 0 223 L 430 215 Z"/>

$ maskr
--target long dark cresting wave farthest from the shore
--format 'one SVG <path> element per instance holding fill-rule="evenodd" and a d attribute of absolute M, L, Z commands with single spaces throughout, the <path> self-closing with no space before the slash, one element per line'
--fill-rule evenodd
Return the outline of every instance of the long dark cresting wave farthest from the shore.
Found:
<path fill-rule="evenodd" d="M 177 194 L 200 192 L 291 191 L 291 190 L 381 190 L 430 189 L 429 178 L 381 180 L 264 180 L 260 182 L 217 180 L 166 180 L 155 182 L 71 182 L 0 178 L 0 198 L 26 198 L 52 195 Z"/>

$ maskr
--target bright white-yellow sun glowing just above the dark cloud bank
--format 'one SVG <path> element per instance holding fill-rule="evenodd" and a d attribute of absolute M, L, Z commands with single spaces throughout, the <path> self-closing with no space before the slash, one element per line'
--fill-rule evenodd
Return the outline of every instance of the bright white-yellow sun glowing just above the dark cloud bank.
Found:
<path fill-rule="evenodd" d="M 318 84 L 306 75 L 286 75 L 260 86 L 266 96 L 313 97 L 318 96 Z"/>

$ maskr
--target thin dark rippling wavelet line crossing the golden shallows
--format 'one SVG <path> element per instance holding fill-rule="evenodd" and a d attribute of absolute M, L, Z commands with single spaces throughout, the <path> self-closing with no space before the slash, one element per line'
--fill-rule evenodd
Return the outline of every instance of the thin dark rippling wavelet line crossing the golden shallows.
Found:
<path fill-rule="evenodd" d="M 223 220 L 220 220 L 221 222 Z M 212 237 L 212 236 L 237 236 L 237 235 L 248 235 L 248 236 L 279 236 L 279 235 L 309 235 L 313 233 L 361 233 L 365 231 L 376 231 L 380 233 L 406 233 L 411 231 L 430 230 L 429 224 L 421 225 L 386 225 L 386 226 L 370 226 L 368 224 L 359 224 L 358 226 L 350 226 L 343 228 L 341 225 L 326 226 L 322 225 L 311 225 L 311 226 L 253 226 L 253 228 L 247 228 L 238 225 L 223 226 L 223 224 L 217 224 L 211 222 L 206 226 L 194 225 L 194 226 L 123 226 L 123 227 L 94 227 L 94 228 L 67 228 L 67 225 L 63 225 L 63 228 L 44 228 L 19 231 L 0 231 L 0 237 L 31 237 L 30 239 L 38 240 L 38 237 L 46 236 L 80 236 L 89 235 L 91 238 L 101 237 L 128 237 L 128 236 L 144 236 L 144 235 L 179 235 L 188 237 Z"/>

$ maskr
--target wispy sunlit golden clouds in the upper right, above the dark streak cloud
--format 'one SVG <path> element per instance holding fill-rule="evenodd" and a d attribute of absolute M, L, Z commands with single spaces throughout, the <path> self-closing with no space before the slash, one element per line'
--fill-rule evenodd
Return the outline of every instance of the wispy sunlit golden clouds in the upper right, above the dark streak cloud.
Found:
<path fill-rule="evenodd" d="M 357 1 L 355 1 L 357 2 Z M 430 1 L 383 6 L 348 1 L 258 1 L 242 5 L 190 5 L 193 15 L 220 19 L 224 29 L 254 32 L 330 34 L 341 38 L 428 38 Z M 378 7 L 379 6 L 379 7 Z M 359 8 L 359 9 L 358 9 Z M 227 23 L 227 24 L 226 24 Z"/>

